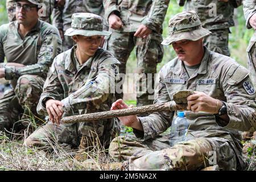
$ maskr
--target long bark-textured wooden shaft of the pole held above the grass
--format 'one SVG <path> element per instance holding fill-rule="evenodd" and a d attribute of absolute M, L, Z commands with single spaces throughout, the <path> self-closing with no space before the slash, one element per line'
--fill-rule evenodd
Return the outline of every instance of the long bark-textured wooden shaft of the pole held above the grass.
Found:
<path fill-rule="evenodd" d="M 161 103 L 161 104 L 151 104 L 146 106 L 132 107 L 129 109 L 119 109 L 102 111 L 98 113 L 82 114 L 82 115 L 72 115 L 69 117 L 64 117 L 61 119 L 63 123 L 75 123 L 75 122 L 86 122 L 86 121 L 96 121 L 99 119 L 108 119 L 114 117 L 121 117 L 126 115 L 136 115 L 136 114 L 149 114 L 155 111 L 174 111 L 180 110 L 181 107 L 177 106 L 174 101 Z"/>

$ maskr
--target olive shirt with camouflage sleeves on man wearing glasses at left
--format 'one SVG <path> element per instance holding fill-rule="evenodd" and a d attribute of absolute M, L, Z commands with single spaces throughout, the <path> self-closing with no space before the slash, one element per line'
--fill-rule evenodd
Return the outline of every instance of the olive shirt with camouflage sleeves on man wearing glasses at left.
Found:
<path fill-rule="evenodd" d="M 36 26 L 22 39 L 17 21 L 0 27 L 0 63 L 20 63 L 25 67 L 6 66 L 6 80 L 21 75 L 39 75 L 46 78 L 53 59 L 61 53 L 59 31 L 51 24 L 38 20 Z"/>

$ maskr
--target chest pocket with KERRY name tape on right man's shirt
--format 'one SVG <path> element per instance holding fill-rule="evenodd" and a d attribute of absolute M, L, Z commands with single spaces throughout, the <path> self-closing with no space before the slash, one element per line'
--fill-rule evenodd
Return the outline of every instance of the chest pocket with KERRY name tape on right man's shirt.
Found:
<path fill-rule="evenodd" d="M 183 78 L 166 77 L 164 78 L 164 83 L 171 100 L 174 93 L 187 89 L 186 81 Z"/>

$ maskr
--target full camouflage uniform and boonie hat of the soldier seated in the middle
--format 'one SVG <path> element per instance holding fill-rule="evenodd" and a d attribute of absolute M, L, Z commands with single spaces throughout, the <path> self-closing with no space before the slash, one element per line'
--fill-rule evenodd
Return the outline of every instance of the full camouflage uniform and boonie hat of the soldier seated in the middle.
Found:
<path fill-rule="evenodd" d="M 91 18 L 91 15 L 93 15 L 93 18 Z M 80 18 L 82 22 L 79 22 Z M 80 30 L 84 31 L 86 28 L 91 28 L 88 30 L 87 36 L 89 34 L 100 35 L 102 26 L 99 28 L 97 27 L 97 22 L 93 22 L 99 18 L 100 16 L 94 14 L 76 13 L 72 16 L 72 27 L 86 24 L 89 27 L 84 27 L 84 29 Z M 97 30 L 97 28 L 98 31 L 93 33 L 93 30 Z M 68 36 L 77 35 L 77 31 L 80 30 L 69 28 L 65 34 Z M 63 117 L 110 110 L 112 102 L 115 101 L 113 90 L 115 76 L 118 75 L 119 61 L 108 51 L 98 48 L 94 56 L 78 67 L 79 63 L 76 60 L 75 49 L 76 46 L 61 53 L 53 61 L 40 97 L 38 113 L 47 115 L 44 105 L 46 98 L 63 102 Z M 27 146 L 35 144 L 46 145 L 47 140 L 52 137 L 51 134 L 56 134 L 60 143 L 71 144 L 73 147 L 79 145 L 80 137 L 82 136 L 85 136 L 89 141 L 98 137 L 103 146 L 108 146 L 110 139 L 118 131 L 119 125 L 116 119 L 69 124 L 61 123 L 60 125 L 53 125 L 52 122 L 48 122 L 30 135 L 25 143 Z"/>

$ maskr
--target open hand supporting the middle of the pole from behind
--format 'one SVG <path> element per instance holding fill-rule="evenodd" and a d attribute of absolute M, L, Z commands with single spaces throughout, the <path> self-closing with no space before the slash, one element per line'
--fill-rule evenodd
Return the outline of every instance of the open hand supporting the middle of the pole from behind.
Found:
<path fill-rule="evenodd" d="M 127 106 L 125 104 L 125 102 L 123 102 L 122 99 L 119 99 L 112 104 L 112 107 L 110 110 L 128 109 L 131 107 L 133 107 L 133 106 L 132 105 Z M 118 117 L 118 118 L 123 123 L 123 125 L 133 127 L 134 129 L 143 131 L 142 124 L 141 124 L 141 122 L 139 122 L 137 115 L 127 115 L 127 116 Z"/>

